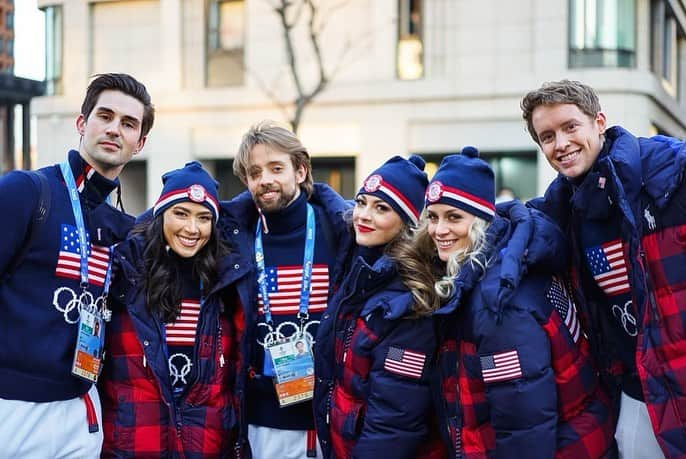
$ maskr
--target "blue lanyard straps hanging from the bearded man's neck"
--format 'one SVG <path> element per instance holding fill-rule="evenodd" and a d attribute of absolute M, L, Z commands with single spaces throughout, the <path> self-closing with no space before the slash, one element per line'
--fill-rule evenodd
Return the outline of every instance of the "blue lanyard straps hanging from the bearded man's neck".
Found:
<path fill-rule="evenodd" d="M 307 227 L 305 229 L 305 250 L 303 253 L 303 281 L 300 288 L 300 306 L 298 308 L 298 318 L 307 320 L 307 310 L 310 304 L 310 289 L 312 287 L 312 261 L 314 259 L 314 211 L 312 206 L 307 204 Z M 257 285 L 262 295 L 264 309 L 264 320 L 272 323 L 271 303 L 269 301 L 269 291 L 267 289 L 267 274 L 264 268 L 264 247 L 262 245 L 262 220 L 257 219 L 257 229 L 255 230 L 255 262 L 257 263 Z"/>

